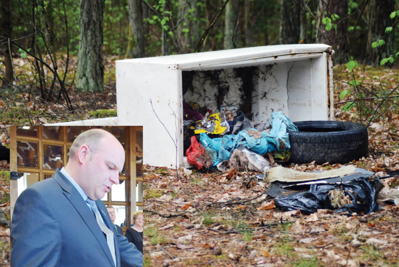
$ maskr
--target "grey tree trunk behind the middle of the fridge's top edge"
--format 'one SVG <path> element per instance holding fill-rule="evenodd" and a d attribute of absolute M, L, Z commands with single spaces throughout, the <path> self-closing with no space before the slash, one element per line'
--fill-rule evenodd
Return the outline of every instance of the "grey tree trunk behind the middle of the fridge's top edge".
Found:
<path fill-rule="evenodd" d="M 235 30 L 238 24 L 238 3 L 239 0 L 230 0 L 226 5 L 224 17 L 224 49 L 238 47 L 237 31 Z"/>

